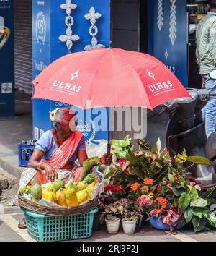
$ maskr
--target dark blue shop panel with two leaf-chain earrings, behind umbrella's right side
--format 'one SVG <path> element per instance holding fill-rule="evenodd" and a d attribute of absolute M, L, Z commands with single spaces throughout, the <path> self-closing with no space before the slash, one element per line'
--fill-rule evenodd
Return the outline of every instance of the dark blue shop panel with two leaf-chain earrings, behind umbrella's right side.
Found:
<path fill-rule="evenodd" d="M 186 0 L 148 0 L 148 53 L 188 86 Z"/>

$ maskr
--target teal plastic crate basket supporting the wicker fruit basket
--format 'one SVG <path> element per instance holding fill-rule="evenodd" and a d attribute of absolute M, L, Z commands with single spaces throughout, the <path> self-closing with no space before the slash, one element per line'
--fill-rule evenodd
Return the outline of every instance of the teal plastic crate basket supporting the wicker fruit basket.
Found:
<path fill-rule="evenodd" d="M 53 242 L 91 237 L 94 209 L 73 216 L 45 216 L 22 209 L 27 223 L 27 232 L 36 241 Z"/>

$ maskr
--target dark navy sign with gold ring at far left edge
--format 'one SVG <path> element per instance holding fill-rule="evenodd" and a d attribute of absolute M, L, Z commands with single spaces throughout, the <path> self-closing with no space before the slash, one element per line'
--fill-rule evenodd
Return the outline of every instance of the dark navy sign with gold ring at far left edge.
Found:
<path fill-rule="evenodd" d="M 0 1 L 0 116 L 14 116 L 14 1 Z"/>

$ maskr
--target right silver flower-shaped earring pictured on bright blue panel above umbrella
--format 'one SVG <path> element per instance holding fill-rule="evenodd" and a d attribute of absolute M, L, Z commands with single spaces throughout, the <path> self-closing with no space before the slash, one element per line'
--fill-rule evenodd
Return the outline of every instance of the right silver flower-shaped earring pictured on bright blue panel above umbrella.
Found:
<path fill-rule="evenodd" d="M 95 48 L 105 48 L 104 45 L 100 43 L 98 44 L 98 40 L 96 39 L 96 35 L 98 34 L 99 30 L 95 24 L 96 24 L 96 20 L 102 17 L 102 14 L 100 14 L 99 12 L 95 12 L 94 7 L 91 7 L 89 10 L 89 13 L 87 13 L 84 17 L 86 18 L 86 20 L 90 20 L 91 27 L 89 28 L 89 34 L 92 36 L 91 45 L 90 44 L 87 45 L 84 48 L 84 50 L 89 51 Z"/>

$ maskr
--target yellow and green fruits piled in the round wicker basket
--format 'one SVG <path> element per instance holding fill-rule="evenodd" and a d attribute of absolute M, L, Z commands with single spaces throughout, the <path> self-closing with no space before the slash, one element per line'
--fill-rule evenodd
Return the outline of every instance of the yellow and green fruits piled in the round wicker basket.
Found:
<path fill-rule="evenodd" d="M 96 185 L 96 176 L 89 174 L 78 183 L 65 184 L 60 179 L 53 184 L 35 184 L 32 188 L 32 200 L 39 202 L 41 199 L 55 202 L 62 207 L 74 207 L 91 200 L 91 191 Z"/>

